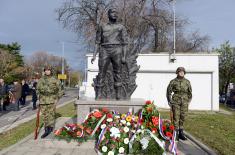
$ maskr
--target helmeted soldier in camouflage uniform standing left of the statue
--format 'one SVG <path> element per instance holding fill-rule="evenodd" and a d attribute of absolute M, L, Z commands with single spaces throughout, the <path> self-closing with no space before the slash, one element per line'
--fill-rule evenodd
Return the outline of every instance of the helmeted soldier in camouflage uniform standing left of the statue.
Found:
<path fill-rule="evenodd" d="M 45 127 L 45 133 L 41 138 L 45 138 L 53 131 L 56 103 L 61 92 L 60 81 L 52 76 L 50 66 L 44 68 L 44 74 L 37 84 L 40 110 Z"/>

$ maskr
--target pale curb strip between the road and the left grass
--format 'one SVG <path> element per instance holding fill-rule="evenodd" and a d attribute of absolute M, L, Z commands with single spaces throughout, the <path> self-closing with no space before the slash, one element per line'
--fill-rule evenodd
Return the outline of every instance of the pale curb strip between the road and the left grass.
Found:
<path fill-rule="evenodd" d="M 65 106 L 65 105 L 67 105 L 67 104 L 69 104 L 69 103 L 71 103 L 71 102 L 74 102 L 74 101 L 76 101 L 76 99 L 71 99 L 71 100 L 69 100 L 69 101 L 66 101 L 66 102 L 64 102 L 64 103 L 62 103 L 62 104 L 56 106 L 56 108 L 63 107 L 63 106 Z M 22 119 L 22 120 L 20 120 L 20 121 L 18 121 L 18 122 L 15 122 L 15 123 L 13 123 L 13 124 L 6 125 L 6 126 L 4 126 L 4 127 L 1 127 L 1 128 L 0 128 L 0 134 L 2 134 L 2 133 L 4 133 L 4 132 L 7 132 L 7 131 L 9 131 L 9 130 L 11 130 L 11 129 L 13 129 L 13 128 L 19 126 L 19 125 L 22 124 L 22 123 L 31 121 L 32 119 L 36 118 L 36 116 L 37 116 L 37 115 L 34 114 L 34 115 L 31 115 L 31 116 L 29 116 L 29 117 L 26 117 L 26 118 L 24 118 L 24 119 Z"/>

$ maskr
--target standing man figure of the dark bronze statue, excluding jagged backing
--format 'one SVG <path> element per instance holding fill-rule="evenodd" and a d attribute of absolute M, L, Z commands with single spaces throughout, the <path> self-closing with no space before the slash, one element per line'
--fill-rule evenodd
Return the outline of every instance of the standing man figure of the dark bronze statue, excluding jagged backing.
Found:
<path fill-rule="evenodd" d="M 126 28 L 117 23 L 117 11 L 115 8 L 108 10 L 109 22 L 98 27 L 96 33 L 96 51 L 93 54 L 91 63 L 99 53 L 99 74 L 96 79 L 96 99 L 103 99 L 102 89 L 105 85 L 107 72 L 112 66 L 115 98 L 122 96 L 122 65 L 126 63 L 126 46 L 128 37 Z"/>

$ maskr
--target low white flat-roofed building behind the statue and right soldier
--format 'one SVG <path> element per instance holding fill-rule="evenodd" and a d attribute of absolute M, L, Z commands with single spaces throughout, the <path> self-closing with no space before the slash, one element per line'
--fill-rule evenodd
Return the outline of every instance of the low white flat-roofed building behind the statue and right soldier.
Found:
<path fill-rule="evenodd" d="M 154 100 L 160 108 L 169 108 L 166 89 L 170 80 L 176 77 L 177 67 L 186 68 L 186 78 L 190 80 L 193 99 L 191 110 L 219 110 L 219 54 L 176 54 L 174 63 L 169 61 L 169 54 L 139 54 L 137 59 L 140 70 L 137 73 L 137 89 L 132 98 Z M 92 55 L 87 55 L 86 97 L 95 97 L 92 87 L 93 78 L 98 73 L 98 60 L 91 64 Z"/>

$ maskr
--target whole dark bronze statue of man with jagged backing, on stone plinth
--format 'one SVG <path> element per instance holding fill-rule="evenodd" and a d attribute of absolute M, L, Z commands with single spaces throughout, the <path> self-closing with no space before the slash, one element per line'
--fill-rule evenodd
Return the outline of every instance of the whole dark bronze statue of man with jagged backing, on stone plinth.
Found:
<path fill-rule="evenodd" d="M 94 79 L 96 99 L 129 99 L 137 85 L 136 49 L 127 53 L 126 28 L 117 23 L 115 8 L 108 10 L 109 22 L 101 24 L 96 33 L 96 51 L 91 63 L 99 53 L 99 74 Z"/>

